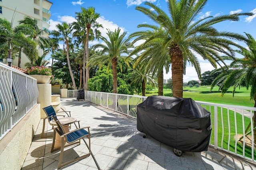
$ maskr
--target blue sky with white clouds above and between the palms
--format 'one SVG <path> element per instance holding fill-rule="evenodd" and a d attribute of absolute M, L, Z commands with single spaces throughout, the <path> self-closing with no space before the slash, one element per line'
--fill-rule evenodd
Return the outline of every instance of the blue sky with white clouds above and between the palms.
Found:
<path fill-rule="evenodd" d="M 50 8 L 52 16 L 50 18 L 50 30 L 55 29 L 57 23 L 66 21 L 68 23 L 75 21 L 75 12 L 81 11 L 81 6 L 84 8 L 94 7 L 96 12 L 100 14 L 98 22 L 104 28 L 100 30 L 103 36 L 106 36 L 106 29 L 114 31 L 120 27 L 122 32 L 126 31 L 127 35 L 135 31 L 140 31 L 137 28 L 138 24 L 153 22 L 142 12 L 135 10 L 136 6 L 144 6 L 144 2 L 152 2 L 167 11 L 166 0 L 49 0 L 52 2 Z M 253 12 L 255 15 L 240 17 L 240 21 L 231 22 L 224 21 L 216 24 L 219 31 L 231 31 L 244 35 L 244 32 L 250 33 L 256 39 L 256 0 L 208 0 L 200 17 L 218 16 L 224 14 L 231 14 L 232 12 Z M 198 19 L 199 19 L 198 18 Z M 90 45 L 99 43 L 97 41 L 90 42 Z M 140 43 L 140 42 L 138 42 Z M 246 47 L 242 42 L 237 42 Z M 61 47 L 61 46 L 60 46 Z M 200 56 L 198 59 L 201 64 L 202 73 L 207 70 L 213 70 L 213 67 L 208 61 L 204 61 Z M 164 79 L 171 78 L 171 72 L 164 74 Z M 186 75 L 184 75 L 184 82 L 189 80 L 198 80 L 196 72 L 189 64 L 186 68 Z"/>

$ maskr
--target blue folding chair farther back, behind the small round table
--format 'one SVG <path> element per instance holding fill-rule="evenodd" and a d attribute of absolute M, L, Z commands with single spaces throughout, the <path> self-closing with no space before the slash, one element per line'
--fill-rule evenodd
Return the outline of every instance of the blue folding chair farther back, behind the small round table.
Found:
<path fill-rule="evenodd" d="M 61 108 L 62 109 L 62 108 Z M 43 108 L 44 112 L 46 113 L 46 117 L 44 117 L 44 121 L 43 121 L 43 129 L 42 129 L 42 133 L 41 133 L 41 138 L 46 138 L 46 137 L 53 137 L 53 135 L 44 135 L 44 130 L 45 130 L 45 120 L 48 119 L 48 122 L 50 123 L 50 121 L 52 120 L 52 116 L 56 117 L 57 116 L 63 116 L 65 117 L 66 115 L 68 117 L 71 117 L 70 111 L 65 111 L 64 109 L 62 109 L 63 111 L 59 111 L 57 114 L 54 110 L 54 108 L 52 107 L 52 105 L 48 106 L 48 107 L 44 107 Z M 66 113 L 66 115 L 60 115 L 60 114 L 64 114 Z M 71 126 L 70 126 L 71 127 Z M 52 125 L 52 129 L 54 129 L 53 125 Z"/>

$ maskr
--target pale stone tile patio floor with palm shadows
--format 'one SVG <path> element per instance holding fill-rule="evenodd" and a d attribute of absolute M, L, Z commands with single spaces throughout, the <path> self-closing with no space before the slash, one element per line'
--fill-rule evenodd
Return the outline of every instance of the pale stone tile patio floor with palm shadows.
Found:
<path fill-rule="evenodd" d="M 256 164 L 209 147 L 206 152 L 183 153 L 181 157 L 172 152 L 172 147 L 151 137 L 144 139 L 136 128 L 136 119 L 87 101 L 74 98 L 61 99 L 62 106 L 71 111 L 71 116 L 80 120 L 80 126 L 90 126 L 91 151 L 102 170 L 253 170 Z M 52 137 L 41 139 L 42 119 L 36 130 L 22 170 L 57 169 L 59 151 L 50 152 Z M 49 123 L 47 134 L 53 130 Z M 75 127 L 72 126 L 72 129 Z M 88 139 L 86 139 L 88 142 Z M 66 149 L 64 161 L 72 160 L 88 152 L 81 141 L 78 147 Z M 92 155 L 69 164 L 66 170 L 97 170 Z"/>

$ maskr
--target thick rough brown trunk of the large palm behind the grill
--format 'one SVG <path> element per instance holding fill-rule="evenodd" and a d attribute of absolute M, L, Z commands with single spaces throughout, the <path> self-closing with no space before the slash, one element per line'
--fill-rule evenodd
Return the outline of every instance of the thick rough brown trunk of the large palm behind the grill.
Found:
<path fill-rule="evenodd" d="M 183 97 L 183 58 L 180 47 L 172 47 L 170 49 L 170 57 L 172 61 L 172 94 L 173 97 Z"/>

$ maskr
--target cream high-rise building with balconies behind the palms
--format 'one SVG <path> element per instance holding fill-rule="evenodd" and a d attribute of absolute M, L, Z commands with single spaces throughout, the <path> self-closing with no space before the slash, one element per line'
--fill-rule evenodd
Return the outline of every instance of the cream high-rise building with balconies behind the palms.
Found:
<path fill-rule="evenodd" d="M 52 2 L 48 0 L 0 0 L 0 18 L 13 21 L 13 27 L 15 27 L 18 25 L 18 21 L 29 16 L 37 20 L 40 29 L 48 29 L 50 27 L 51 6 Z M 42 50 L 39 51 L 39 55 L 42 55 Z M 5 63 L 5 59 L 2 62 Z M 30 61 L 22 54 L 21 67 L 25 68 L 24 64 L 27 62 Z M 18 57 L 15 57 L 12 64 L 18 66 Z"/>

